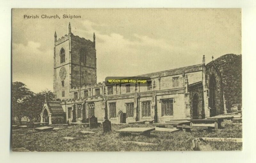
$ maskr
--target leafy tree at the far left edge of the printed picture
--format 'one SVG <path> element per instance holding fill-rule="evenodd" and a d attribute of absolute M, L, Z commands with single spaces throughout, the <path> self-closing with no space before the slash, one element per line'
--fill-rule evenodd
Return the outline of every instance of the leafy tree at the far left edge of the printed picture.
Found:
<path fill-rule="evenodd" d="M 17 117 L 21 123 L 21 118 L 25 116 L 25 103 L 33 96 L 26 85 L 22 82 L 12 83 L 12 117 Z"/>

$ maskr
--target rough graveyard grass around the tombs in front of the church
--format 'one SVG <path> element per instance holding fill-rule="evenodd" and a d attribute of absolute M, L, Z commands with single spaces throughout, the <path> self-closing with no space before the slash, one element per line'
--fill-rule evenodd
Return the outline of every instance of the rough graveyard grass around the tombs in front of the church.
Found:
<path fill-rule="evenodd" d="M 82 126 L 52 125 L 60 130 L 37 132 L 33 128 L 12 130 L 12 148 L 24 147 L 29 151 L 191 151 L 192 140 L 196 137 L 242 137 L 242 123 L 224 121 L 222 129 L 206 132 L 193 129 L 192 132 L 151 132 L 150 136 L 132 135 L 120 136 L 116 130 L 127 127 L 154 127 L 153 124 L 115 125 L 112 131 L 104 133 L 102 124 L 99 128 L 90 129 Z M 96 132 L 84 135 L 80 131 Z M 74 137 L 65 140 L 63 137 Z M 138 141 L 156 145 L 141 146 L 138 144 L 122 144 L 121 141 Z M 230 151 L 242 150 L 242 143 L 210 142 L 213 150 Z"/>

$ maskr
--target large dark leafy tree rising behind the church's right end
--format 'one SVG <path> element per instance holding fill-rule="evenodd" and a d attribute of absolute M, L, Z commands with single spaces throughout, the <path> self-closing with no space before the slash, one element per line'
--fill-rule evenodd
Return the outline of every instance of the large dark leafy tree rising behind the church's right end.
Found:
<path fill-rule="evenodd" d="M 217 58 L 215 64 L 222 68 L 226 107 L 230 109 L 232 104 L 242 104 L 242 55 L 226 54 Z"/>

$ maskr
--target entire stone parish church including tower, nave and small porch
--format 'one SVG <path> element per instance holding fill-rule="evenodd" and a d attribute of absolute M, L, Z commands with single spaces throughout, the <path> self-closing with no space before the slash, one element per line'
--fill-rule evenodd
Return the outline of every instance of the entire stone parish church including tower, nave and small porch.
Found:
<path fill-rule="evenodd" d="M 221 71 L 204 55 L 198 65 L 136 76 L 148 77 L 147 86 L 109 85 L 97 83 L 94 33 L 93 41 L 73 35 L 69 23 L 68 35 L 57 39 L 55 32 L 54 43 L 55 101 L 45 102 L 41 122 L 87 122 L 92 115 L 115 124 L 165 122 L 224 113 Z"/>

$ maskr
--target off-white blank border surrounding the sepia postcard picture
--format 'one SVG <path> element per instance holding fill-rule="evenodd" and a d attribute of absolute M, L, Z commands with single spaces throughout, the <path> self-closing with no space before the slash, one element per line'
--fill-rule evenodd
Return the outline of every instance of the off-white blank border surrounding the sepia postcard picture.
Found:
<path fill-rule="evenodd" d="M 1 6 L 1 138 L 3 162 L 255 162 L 255 29 L 253 1 L 19 1 L 4 0 Z M 242 8 L 243 61 L 243 151 L 159 151 L 159 152 L 19 152 L 10 154 L 11 8 Z"/>

